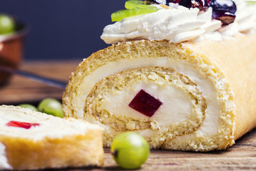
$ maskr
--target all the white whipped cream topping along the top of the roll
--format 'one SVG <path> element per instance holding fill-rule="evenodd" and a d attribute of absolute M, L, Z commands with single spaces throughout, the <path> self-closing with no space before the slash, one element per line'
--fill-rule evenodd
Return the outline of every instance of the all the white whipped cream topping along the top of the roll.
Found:
<path fill-rule="evenodd" d="M 169 9 L 154 5 L 159 11 L 110 24 L 104 28 L 101 38 L 109 44 L 139 39 L 174 43 L 204 38 L 221 41 L 224 37 L 256 28 L 256 5 L 247 6 L 245 1 L 235 3 L 237 17 L 229 26 L 222 27 L 221 21 L 212 19 L 212 8 L 202 12 L 178 5 L 171 5 Z"/>

